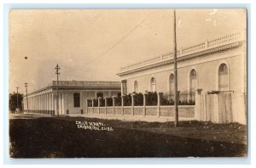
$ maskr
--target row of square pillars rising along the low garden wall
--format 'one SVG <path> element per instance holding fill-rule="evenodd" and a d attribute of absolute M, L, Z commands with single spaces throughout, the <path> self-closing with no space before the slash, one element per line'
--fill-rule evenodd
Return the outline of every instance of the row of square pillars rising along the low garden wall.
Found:
<path fill-rule="evenodd" d="M 162 98 L 163 92 L 158 92 L 157 93 L 157 116 L 160 116 L 160 100 Z M 134 96 L 135 94 L 131 94 L 131 115 L 134 115 Z M 143 93 L 143 115 L 146 115 L 146 99 L 147 99 L 148 93 L 145 92 Z M 121 106 L 115 106 L 115 99 L 116 96 L 113 96 L 113 115 L 114 115 L 114 107 L 121 107 L 121 115 L 124 115 L 124 98 L 125 96 L 121 96 Z M 94 104 L 94 99 L 96 98 L 86 98 L 86 112 L 88 113 L 88 101 L 90 100 L 92 103 L 92 108 L 96 107 L 98 109 L 98 114 L 100 114 L 100 107 L 101 107 L 101 99 L 102 98 L 97 98 L 98 99 L 98 104 Z M 105 101 L 105 115 L 107 115 L 107 101 L 108 97 L 104 98 Z"/>

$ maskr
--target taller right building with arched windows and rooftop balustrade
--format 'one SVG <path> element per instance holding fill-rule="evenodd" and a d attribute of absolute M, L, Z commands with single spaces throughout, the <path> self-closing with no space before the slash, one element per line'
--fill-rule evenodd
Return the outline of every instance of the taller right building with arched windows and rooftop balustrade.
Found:
<path fill-rule="evenodd" d="M 220 36 L 177 50 L 180 92 L 246 92 L 247 43 L 244 33 Z M 122 67 L 122 94 L 157 91 L 172 94 L 173 52 Z"/>

